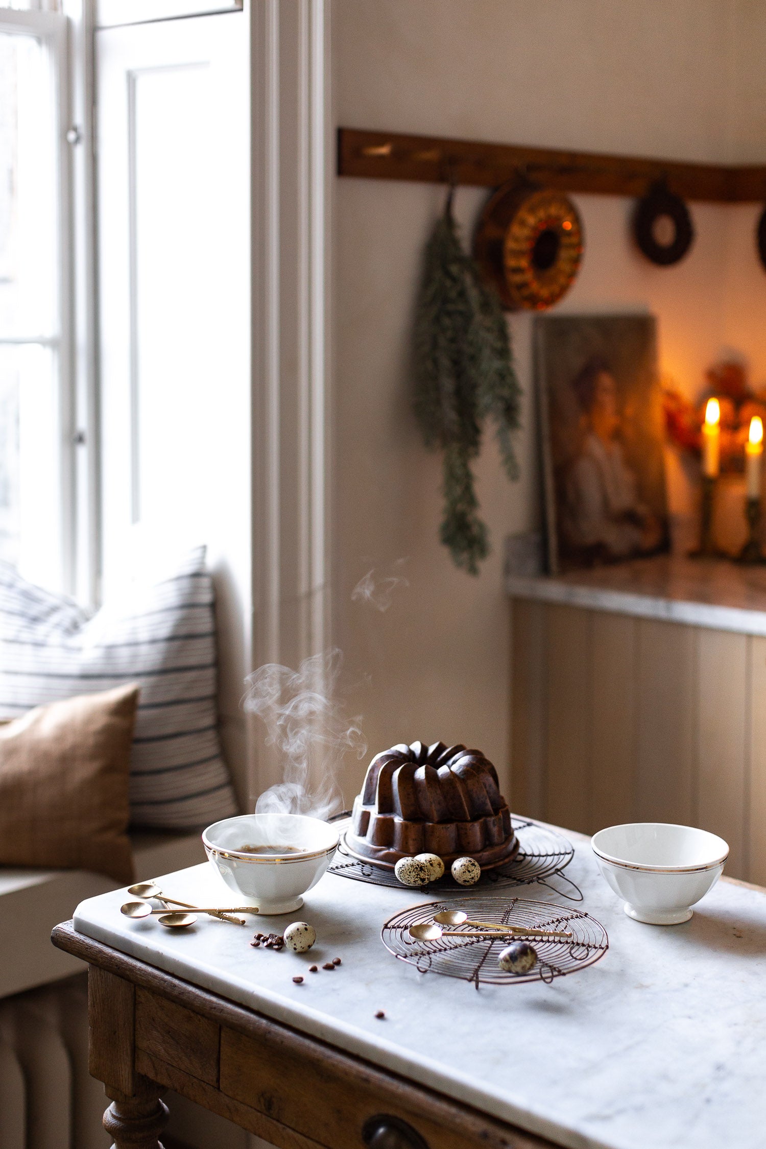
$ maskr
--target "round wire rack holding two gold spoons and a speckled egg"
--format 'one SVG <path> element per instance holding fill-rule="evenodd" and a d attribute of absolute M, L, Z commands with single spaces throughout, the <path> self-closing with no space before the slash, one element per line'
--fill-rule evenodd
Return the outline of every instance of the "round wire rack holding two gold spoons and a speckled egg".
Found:
<path fill-rule="evenodd" d="M 529 939 L 537 951 L 537 962 L 528 973 L 506 973 L 497 958 L 509 944 L 508 938 L 440 938 L 438 941 L 416 941 L 409 928 L 420 921 L 431 921 L 439 910 L 456 909 L 454 902 L 425 902 L 411 905 L 384 925 L 380 936 L 386 949 L 402 962 L 413 965 L 419 973 L 441 973 L 447 978 L 480 985 L 510 986 L 518 981 L 546 981 L 564 978 L 587 965 L 593 965 L 609 949 L 606 931 L 599 921 L 582 910 L 550 902 L 532 902 L 520 897 L 503 900 L 483 896 L 471 900 L 471 915 L 483 921 L 501 925 L 531 926 L 535 930 L 568 930 L 572 941 Z M 462 926 L 469 930 L 467 926 Z"/>

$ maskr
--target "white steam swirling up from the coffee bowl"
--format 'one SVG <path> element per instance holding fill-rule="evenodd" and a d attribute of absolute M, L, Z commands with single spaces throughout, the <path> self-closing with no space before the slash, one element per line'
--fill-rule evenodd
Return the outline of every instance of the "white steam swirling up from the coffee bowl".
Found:
<path fill-rule="evenodd" d="M 245 709 L 266 725 L 266 746 L 276 746 L 284 781 L 258 797 L 256 813 L 310 813 L 327 818 L 341 805 L 336 773 L 349 750 L 363 758 L 367 745 L 334 700 L 342 654 L 328 650 L 297 670 L 268 663 L 246 679 Z"/>

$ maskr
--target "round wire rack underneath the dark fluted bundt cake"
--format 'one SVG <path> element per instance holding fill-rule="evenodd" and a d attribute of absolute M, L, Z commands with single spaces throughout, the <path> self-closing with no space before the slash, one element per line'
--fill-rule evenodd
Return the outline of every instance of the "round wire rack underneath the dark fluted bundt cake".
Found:
<path fill-rule="evenodd" d="M 348 812 L 339 813 L 331 822 L 348 818 Z M 485 870 L 475 886 L 459 886 L 449 871 L 439 881 L 418 888 L 426 894 L 473 894 L 475 890 L 503 889 L 512 886 L 532 886 L 539 882 L 548 886 L 559 897 L 571 902 L 581 902 L 582 893 L 571 878 L 564 874 L 564 869 L 574 856 L 572 842 L 558 834 L 550 826 L 543 826 L 532 818 L 520 818 L 511 815 L 511 823 L 519 839 L 519 853 L 508 865 L 495 870 Z M 395 889 L 407 888 L 397 880 L 393 870 L 373 865 L 372 862 L 361 862 L 353 857 L 346 848 L 346 826 L 341 828 L 340 845 L 330 865 L 330 873 L 355 881 L 369 881 L 373 886 L 390 886 Z M 552 881 L 550 879 L 554 879 Z M 563 887 L 563 888 L 562 888 Z"/>

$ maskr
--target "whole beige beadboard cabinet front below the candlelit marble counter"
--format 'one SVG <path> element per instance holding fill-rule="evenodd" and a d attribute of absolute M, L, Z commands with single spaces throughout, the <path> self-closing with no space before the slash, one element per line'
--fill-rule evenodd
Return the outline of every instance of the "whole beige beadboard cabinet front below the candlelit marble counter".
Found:
<path fill-rule="evenodd" d="M 730 877 L 766 881 L 766 639 L 521 599 L 512 617 L 514 811 L 698 825 Z"/>

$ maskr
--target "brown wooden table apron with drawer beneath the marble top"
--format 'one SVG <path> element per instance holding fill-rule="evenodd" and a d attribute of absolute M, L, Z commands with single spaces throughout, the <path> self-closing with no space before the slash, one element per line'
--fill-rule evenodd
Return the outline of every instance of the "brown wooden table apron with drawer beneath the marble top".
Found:
<path fill-rule="evenodd" d="M 188 995 L 186 995 L 188 997 Z M 315 1038 L 137 987 L 136 1070 L 284 1149 L 554 1149 Z"/>

